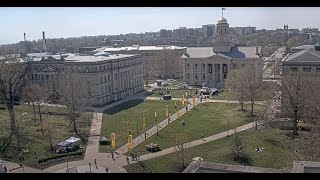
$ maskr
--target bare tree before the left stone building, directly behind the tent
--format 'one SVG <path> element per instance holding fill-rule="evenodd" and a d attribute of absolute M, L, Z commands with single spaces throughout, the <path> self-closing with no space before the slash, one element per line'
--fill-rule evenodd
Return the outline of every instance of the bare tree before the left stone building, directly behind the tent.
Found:
<path fill-rule="evenodd" d="M 79 114 L 90 104 L 87 81 L 73 72 L 66 72 L 59 78 L 58 93 L 61 104 L 66 106 L 68 119 L 74 132 L 82 139 L 77 129 Z"/>

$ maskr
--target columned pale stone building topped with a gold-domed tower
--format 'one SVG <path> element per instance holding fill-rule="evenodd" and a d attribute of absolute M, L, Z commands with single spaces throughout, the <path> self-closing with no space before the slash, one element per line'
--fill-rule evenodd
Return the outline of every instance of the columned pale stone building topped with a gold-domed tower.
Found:
<path fill-rule="evenodd" d="M 232 69 L 251 66 L 262 79 L 261 47 L 232 46 L 228 21 L 221 17 L 216 24 L 212 47 L 188 47 L 182 55 L 183 78 L 189 85 L 206 84 L 224 88 Z"/>

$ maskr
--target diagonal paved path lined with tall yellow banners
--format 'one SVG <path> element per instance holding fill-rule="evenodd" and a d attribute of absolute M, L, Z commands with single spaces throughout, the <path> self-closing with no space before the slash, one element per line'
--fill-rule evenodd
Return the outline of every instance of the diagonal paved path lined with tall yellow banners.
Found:
<path fill-rule="evenodd" d="M 189 103 L 192 103 L 192 99 L 189 100 Z M 198 105 L 199 102 L 196 100 L 196 105 Z M 192 105 L 189 104 L 188 105 L 188 110 L 192 109 Z M 180 116 L 182 116 L 183 114 L 186 113 L 186 109 L 185 108 L 182 108 L 179 110 L 179 114 Z M 175 121 L 176 119 L 178 119 L 176 113 L 174 113 L 173 115 L 170 116 L 170 123 Z M 168 118 L 164 119 L 163 121 L 161 121 L 160 123 L 158 123 L 158 131 L 160 131 L 161 129 L 165 128 L 166 126 L 168 126 Z M 147 139 L 149 137 L 151 137 L 152 135 L 156 134 L 157 133 L 157 125 L 151 127 L 149 130 L 147 130 Z M 141 134 L 140 136 L 134 138 L 132 140 L 132 144 L 133 144 L 133 147 L 134 148 L 135 146 L 139 145 L 140 143 L 142 143 L 143 141 L 145 141 L 145 137 L 144 137 L 144 134 Z M 128 146 L 127 144 L 123 145 L 122 147 L 120 147 L 119 149 L 116 150 L 117 152 L 121 152 L 123 154 L 127 153 L 128 152 Z"/>

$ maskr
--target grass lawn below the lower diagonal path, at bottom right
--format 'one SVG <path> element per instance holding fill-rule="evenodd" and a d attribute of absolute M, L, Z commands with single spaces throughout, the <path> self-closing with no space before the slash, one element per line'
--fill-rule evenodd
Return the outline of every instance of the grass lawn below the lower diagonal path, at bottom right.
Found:
<path fill-rule="evenodd" d="M 279 128 L 265 125 L 260 130 L 247 130 L 239 133 L 245 144 L 245 153 L 249 157 L 246 165 L 284 168 L 292 167 L 294 160 L 297 160 L 292 151 L 292 139 L 286 135 L 286 131 Z M 202 157 L 204 161 L 224 164 L 243 165 L 233 160 L 231 146 L 234 144 L 234 135 L 225 137 L 206 144 L 188 148 L 185 150 L 186 166 L 192 161 L 193 157 Z M 256 152 L 258 146 L 264 147 L 262 152 Z M 148 172 L 153 173 L 178 173 L 183 171 L 181 153 L 175 152 L 165 156 L 157 157 L 142 163 Z M 128 172 L 142 172 L 138 164 L 127 165 Z"/>

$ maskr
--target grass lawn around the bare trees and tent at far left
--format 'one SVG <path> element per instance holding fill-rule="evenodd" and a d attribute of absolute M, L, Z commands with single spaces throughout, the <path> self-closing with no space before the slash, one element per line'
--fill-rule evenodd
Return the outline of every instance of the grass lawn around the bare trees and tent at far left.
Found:
<path fill-rule="evenodd" d="M 71 136 L 76 136 L 73 131 L 73 126 L 69 126 L 69 120 L 66 119 L 64 115 L 47 115 L 44 112 L 64 112 L 64 108 L 57 107 L 42 107 L 42 118 L 43 121 L 50 121 L 52 123 L 52 141 L 53 145 L 70 138 Z M 86 113 L 87 117 L 92 118 L 92 113 Z M 29 153 L 24 153 L 24 164 L 38 167 L 37 161 L 42 158 L 54 156 L 50 150 L 50 143 L 47 138 L 41 133 L 40 125 L 36 125 L 33 120 L 32 107 L 28 105 L 16 106 L 16 117 L 19 122 L 19 129 L 22 134 L 21 145 L 24 149 L 27 149 Z M 0 110 L 0 123 L 1 123 L 1 133 L 0 137 L 7 137 L 9 113 L 7 110 Z M 37 114 L 37 119 L 39 121 L 39 116 Z M 82 119 L 79 122 L 78 130 L 82 137 L 84 138 L 83 145 L 85 147 L 87 139 L 90 132 L 90 121 L 87 119 Z M 37 154 L 37 159 L 35 159 L 34 153 Z M 11 145 L 9 146 L 7 152 L 2 154 L 2 157 L 8 161 L 19 162 L 18 148 L 16 138 L 13 138 Z M 38 167 L 39 168 L 39 167 Z"/>

